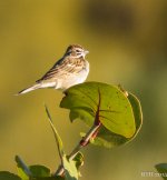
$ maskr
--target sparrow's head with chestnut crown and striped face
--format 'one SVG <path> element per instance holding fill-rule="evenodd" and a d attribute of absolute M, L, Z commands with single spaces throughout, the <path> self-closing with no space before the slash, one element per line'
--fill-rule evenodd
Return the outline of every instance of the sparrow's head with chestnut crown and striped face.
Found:
<path fill-rule="evenodd" d="M 65 56 L 70 56 L 73 58 L 85 58 L 89 51 L 85 50 L 79 44 L 71 44 L 67 48 Z"/>

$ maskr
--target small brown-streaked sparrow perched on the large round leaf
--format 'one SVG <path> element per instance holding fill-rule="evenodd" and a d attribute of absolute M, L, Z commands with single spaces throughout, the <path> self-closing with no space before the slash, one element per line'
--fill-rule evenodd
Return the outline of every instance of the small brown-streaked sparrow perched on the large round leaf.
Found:
<path fill-rule="evenodd" d="M 89 53 L 79 44 L 70 44 L 61 59 L 29 88 L 19 91 L 23 94 L 37 89 L 53 88 L 66 91 L 68 88 L 86 81 L 89 73 L 89 62 L 85 59 Z"/>

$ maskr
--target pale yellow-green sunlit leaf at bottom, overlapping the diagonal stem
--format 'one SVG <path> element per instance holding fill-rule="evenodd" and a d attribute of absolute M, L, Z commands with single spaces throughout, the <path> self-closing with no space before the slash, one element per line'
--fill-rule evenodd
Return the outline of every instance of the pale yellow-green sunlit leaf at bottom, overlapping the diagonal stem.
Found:
<path fill-rule="evenodd" d="M 62 157 L 65 179 L 66 180 L 78 180 L 78 170 L 73 160 L 68 160 L 66 156 Z"/>

